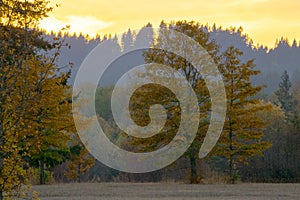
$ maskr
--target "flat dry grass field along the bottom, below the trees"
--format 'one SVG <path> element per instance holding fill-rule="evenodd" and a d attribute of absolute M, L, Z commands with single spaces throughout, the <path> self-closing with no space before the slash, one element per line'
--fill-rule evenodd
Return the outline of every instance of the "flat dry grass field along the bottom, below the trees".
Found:
<path fill-rule="evenodd" d="M 81 183 L 33 186 L 41 200 L 299 200 L 300 184 Z"/>

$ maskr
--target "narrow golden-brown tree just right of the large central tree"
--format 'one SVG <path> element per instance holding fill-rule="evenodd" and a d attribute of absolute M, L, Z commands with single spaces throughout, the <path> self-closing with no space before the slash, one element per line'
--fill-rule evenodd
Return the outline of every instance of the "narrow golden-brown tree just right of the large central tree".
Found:
<path fill-rule="evenodd" d="M 269 142 L 262 141 L 265 123 L 257 116 L 269 106 L 255 98 L 262 86 L 253 86 L 250 81 L 259 71 L 254 69 L 253 60 L 241 63 L 241 55 L 241 51 L 229 47 L 219 65 L 227 94 L 227 117 L 214 154 L 227 159 L 230 183 L 235 183 L 239 163 L 247 164 L 249 157 L 262 155 L 270 147 Z"/>

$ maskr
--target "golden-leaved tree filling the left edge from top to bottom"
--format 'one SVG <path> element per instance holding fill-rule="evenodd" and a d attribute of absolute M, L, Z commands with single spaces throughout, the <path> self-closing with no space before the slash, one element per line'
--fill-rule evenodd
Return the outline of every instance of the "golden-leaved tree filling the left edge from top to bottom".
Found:
<path fill-rule="evenodd" d="M 58 142 L 73 129 L 67 75 L 55 65 L 62 43 L 37 29 L 51 10 L 43 0 L 0 2 L 0 199 L 24 196 L 28 158 L 45 147 L 45 135 L 59 133 Z"/>

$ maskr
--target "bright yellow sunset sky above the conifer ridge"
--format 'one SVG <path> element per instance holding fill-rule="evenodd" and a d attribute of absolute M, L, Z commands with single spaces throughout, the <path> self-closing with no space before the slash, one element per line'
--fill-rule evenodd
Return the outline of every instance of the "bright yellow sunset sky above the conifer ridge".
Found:
<path fill-rule="evenodd" d="M 50 0 L 59 4 L 41 22 L 47 31 L 112 35 L 162 20 L 197 21 L 224 28 L 242 26 L 254 44 L 273 47 L 281 37 L 300 41 L 299 0 Z"/>

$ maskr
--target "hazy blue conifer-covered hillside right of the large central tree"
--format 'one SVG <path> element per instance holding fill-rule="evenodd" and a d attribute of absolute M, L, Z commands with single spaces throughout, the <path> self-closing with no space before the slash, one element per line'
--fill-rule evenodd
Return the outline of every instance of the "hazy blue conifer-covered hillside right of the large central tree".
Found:
<path fill-rule="evenodd" d="M 235 46 L 244 52 L 242 60 L 254 59 L 261 74 L 252 81 L 254 84 L 264 84 L 264 93 L 270 94 L 277 90 L 280 76 L 284 70 L 289 73 L 292 83 L 300 81 L 300 43 L 294 40 L 290 45 L 287 39 L 276 41 L 274 49 L 264 46 L 254 46 L 252 40 L 243 35 L 240 30 L 211 29 L 211 38 L 215 39 L 224 50 Z"/>

